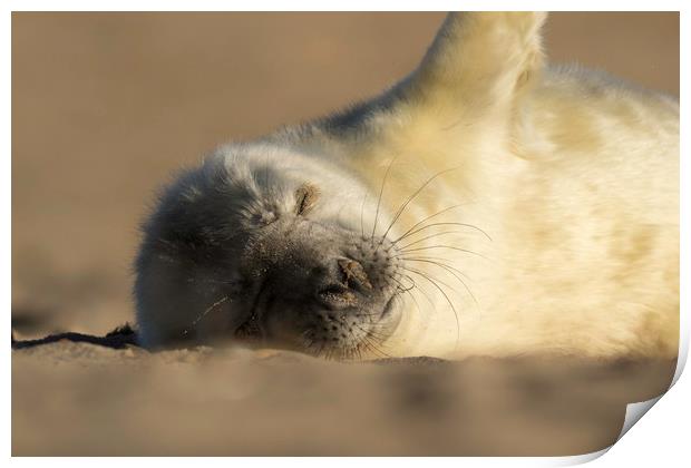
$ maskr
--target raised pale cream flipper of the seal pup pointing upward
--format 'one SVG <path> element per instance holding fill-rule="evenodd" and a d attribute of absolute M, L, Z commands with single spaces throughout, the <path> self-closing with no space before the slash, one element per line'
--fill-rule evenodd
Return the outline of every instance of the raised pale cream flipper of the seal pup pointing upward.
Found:
<path fill-rule="evenodd" d="M 545 18 L 538 12 L 450 13 L 406 94 L 422 108 L 510 108 L 542 69 Z"/>

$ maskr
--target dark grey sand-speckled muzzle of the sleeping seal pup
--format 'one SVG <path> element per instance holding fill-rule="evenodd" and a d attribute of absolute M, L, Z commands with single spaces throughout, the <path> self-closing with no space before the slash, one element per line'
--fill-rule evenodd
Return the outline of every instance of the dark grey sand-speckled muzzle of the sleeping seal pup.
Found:
<path fill-rule="evenodd" d="M 236 338 L 348 357 L 376 350 L 396 324 L 400 265 L 381 240 L 298 211 L 256 228 L 240 264 L 247 293 Z"/>

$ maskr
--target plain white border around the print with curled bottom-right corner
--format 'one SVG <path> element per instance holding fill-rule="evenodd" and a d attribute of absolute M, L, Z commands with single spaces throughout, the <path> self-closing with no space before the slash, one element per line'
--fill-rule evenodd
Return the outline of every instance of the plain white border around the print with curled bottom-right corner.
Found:
<path fill-rule="evenodd" d="M 4 183 L 2 184 L 3 197 L 2 197 L 2 212 L 3 220 L 11 220 L 11 84 L 10 84 L 10 67 L 11 67 L 11 16 L 10 11 L 37 11 L 37 10 L 47 10 L 47 11 L 59 11 L 59 10 L 90 10 L 90 11 L 117 11 L 117 10 L 126 10 L 126 11 L 149 11 L 149 10 L 160 10 L 164 8 L 165 10 L 174 10 L 174 11 L 220 11 L 226 10 L 230 7 L 235 11 L 261 11 L 261 10 L 281 10 L 285 11 L 288 9 L 294 11 L 376 11 L 376 10 L 407 10 L 407 11 L 439 11 L 439 10 L 552 10 L 552 11 L 643 11 L 643 10 L 656 10 L 656 11 L 682 11 L 681 14 L 681 42 L 682 42 L 682 53 L 681 53 L 681 81 L 680 82 L 689 82 L 689 74 L 688 74 L 688 60 L 684 58 L 684 51 L 688 50 L 687 45 L 689 43 L 689 20 L 687 14 L 684 14 L 683 2 L 681 1 L 668 1 L 668 0 L 658 0 L 655 2 L 613 2 L 613 1 L 594 1 L 594 0 L 582 0 L 582 1 L 464 1 L 464 2 L 450 2 L 450 1 L 437 1 L 437 0 L 426 0 L 424 3 L 420 2 L 415 4 L 412 2 L 406 1 L 362 1 L 362 0 L 349 0 L 349 1 L 332 1 L 328 4 L 314 2 L 314 1 L 267 1 L 267 0 L 255 0 L 252 2 L 245 1 L 242 4 L 236 2 L 227 2 L 227 1 L 218 1 L 218 0 L 196 0 L 192 1 L 181 1 L 181 0 L 172 0 L 167 2 L 156 2 L 156 1 L 146 1 L 146 0 L 120 0 L 120 1 L 99 1 L 99 2 L 87 2 L 87 1 L 61 1 L 59 4 L 56 4 L 56 1 L 49 0 L 26 0 L 26 1 L 6 1 L 3 6 L 6 6 L 6 14 L 2 17 L 2 41 L 3 47 L 1 48 L 0 62 L 6 64 L 3 67 L 4 72 L 2 74 L 2 85 L 6 92 L 3 94 L 3 109 L 2 113 L 2 134 L 3 134 L 3 147 L 6 148 L 6 155 L 2 158 L 3 170 L 2 177 L 4 178 Z M 424 7 L 424 10 L 420 9 Z M 622 8 L 625 7 L 625 8 Z M 687 109 L 689 108 L 689 99 L 685 98 L 685 95 L 682 94 L 681 99 L 681 109 L 682 109 L 682 124 L 688 121 Z M 684 155 L 687 153 L 687 142 L 688 136 L 685 131 L 685 125 L 682 126 L 682 150 L 681 154 Z M 682 202 L 682 213 L 688 212 L 688 203 L 684 203 L 689 199 L 689 164 L 682 158 L 681 166 L 681 202 Z M 688 228 L 688 217 L 682 216 L 681 220 L 681 238 L 685 240 L 689 237 L 689 228 Z M 9 223 L 8 223 L 9 224 Z M 7 304 L 7 318 L 6 318 L 6 326 L 4 334 L 6 337 L 10 334 L 9 324 L 9 311 L 10 311 L 10 293 L 11 293 L 11 236 L 9 225 L 6 224 L 2 230 L 3 236 L 3 250 L 2 250 L 2 298 L 4 304 Z M 681 270 L 681 281 L 680 284 L 689 284 L 688 274 L 685 266 L 688 263 L 688 250 L 685 248 L 685 244 L 682 242 L 682 270 Z M 682 361 L 680 361 L 680 367 L 678 368 L 678 373 L 675 376 L 675 381 L 679 379 L 679 374 L 681 369 L 683 368 L 683 363 L 685 362 L 685 358 L 688 355 L 688 330 L 689 330 L 689 318 L 688 318 L 688 294 L 685 290 L 682 287 L 681 294 L 681 311 L 682 311 L 682 330 L 684 333 L 682 349 L 680 350 L 680 355 L 682 355 Z M 3 400 L 4 404 L 4 425 L 2 426 L 2 441 L 4 443 L 4 452 L 7 456 L 10 456 L 11 452 L 11 407 L 10 407 L 10 370 L 11 370 L 11 352 L 9 347 L 6 348 L 6 355 L 3 360 L 6 377 L 7 380 L 2 386 Z M 641 425 L 635 425 L 625 437 L 619 441 L 607 454 L 605 457 L 598 458 L 595 461 L 598 467 L 612 467 L 612 466 L 650 466 L 652 462 L 661 466 L 679 466 L 681 460 L 688 460 L 689 450 L 688 450 L 688 418 L 690 416 L 690 406 L 688 396 L 691 393 L 690 391 L 691 384 L 689 383 L 688 377 L 682 377 L 677 381 L 674 388 L 670 391 L 670 394 L 664 396 L 660 403 L 655 406 L 651 410 L 651 413 L 645 417 L 645 422 Z M 603 450 L 606 452 L 607 450 Z M 425 460 L 425 464 L 435 464 L 435 465 L 446 465 L 457 467 L 459 465 L 466 466 L 559 466 L 559 465 L 573 465 L 577 462 L 584 462 L 590 459 L 597 458 L 598 454 L 592 454 L 588 456 L 581 457 L 557 457 L 557 458 L 429 458 Z M 282 466 L 300 466 L 303 468 L 306 466 L 321 466 L 324 460 L 319 460 L 315 458 L 282 458 L 276 460 L 274 458 L 251 458 L 251 459 L 218 459 L 218 458 L 197 458 L 195 460 L 188 460 L 185 458 L 149 458 L 147 459 L 147 464 L 154 465 L 166 465 L 166 466 L 184 466 L 187 467 L 191 462 L 199 464 L 203 462 L 205 465 L 211 466 L 224 466 L 226 467 L 228 462 L 241 462 L 242 465 L 255 465 L 261 466 L 265 462 L 280 462 Z M 328 462 L 333 466 L 346 466 L 351 465 L 353 462 L 357 464 L 381 464 L 387 461 L 393 461 L 390 459 L 363 459 L 363 460 L 351 460 L 348 458 L 341 459 L 331 459 Z M 408 459 L 397 459 L 395 462 L 397 466 L 399 465 L 412 465 L 416 466 L 421 460 L 408 458 Z M 23 459 L 12 459 L 12 464 L 17 465 L 28 465 L 33 466 L 35 464 L 41 462 L 50 462 L 55 464 L 58 467 L 60 466 L 87 466 L 93 465 L 94 462 L 104 465 L 104 466 L 115 466 L 123 464 L 123 460 L 116 458 L 99 458 L 97 460 L 90 458 L 52 458 L 50 460 L 46 460 L 43 458 L 33 459 L 33 458 L 23 458 Z"/>

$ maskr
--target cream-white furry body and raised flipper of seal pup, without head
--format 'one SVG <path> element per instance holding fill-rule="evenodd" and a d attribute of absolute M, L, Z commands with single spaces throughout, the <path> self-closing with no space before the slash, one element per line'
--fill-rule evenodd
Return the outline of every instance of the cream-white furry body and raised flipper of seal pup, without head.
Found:
<path fill-rule="evenodd" d="M 419 251 L 463 271 L 477 302 L 449 271 L 415 264 L 457 290 L 442 287 L 460 339 L 444 295 L 416 277 L 425 294 L 417 304 L 405 296 L 389 353 L 677 354 L 678 103 L 604 74 L 544 68 L 544 19 L 451 14 L 420 68 L 390 91 L 396 101 L 367 113 L 363 128 L 282 136 L 342 158 L 372 193 L 395 158 L 389 213 L 427 177 L 457 168 L 416 197 L 389 237 L 455 204 L 465 205 L 434 221 L 492 237 L 460 228 L 416 244 L 484 255 Z"/>

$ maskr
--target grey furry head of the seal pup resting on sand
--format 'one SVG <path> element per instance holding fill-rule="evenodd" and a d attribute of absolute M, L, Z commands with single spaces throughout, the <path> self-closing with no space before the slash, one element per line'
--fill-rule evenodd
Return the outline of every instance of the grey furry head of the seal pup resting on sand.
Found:
<path fill-rule="evenodd" d="M 135 295 L 158 348 L 232 339 L 338 358 L 396 329 L 401 261 L 362 227 L 376 195 L 325 158 L 221 148 L 183 173 L 144 225 Z"/>

